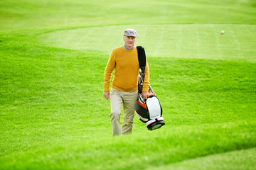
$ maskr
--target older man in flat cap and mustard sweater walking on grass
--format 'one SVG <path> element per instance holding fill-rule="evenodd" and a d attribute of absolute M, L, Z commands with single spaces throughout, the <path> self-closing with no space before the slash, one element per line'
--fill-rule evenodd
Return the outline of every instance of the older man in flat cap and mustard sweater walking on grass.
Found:
<path fill-rule="evenodd" d="M 124 45 L 112 50 L 110 59 L 104 73 L 104 92 L 106 99 L 110 98 L 110 120 L 112 134 L 121 135 L 120 115 L 124 107 L 124 121 L 122 135 L 132 133 L 135 104 L 138 98 L 139 60 L 135 41 L 138 34 L 136 30 L 124 30 Z M 114 79 L 110 91 L 110 79 L 114 69 Z M 149 66 L 146 62 L 142 96 L 146 101 L 149 96 Z"/>

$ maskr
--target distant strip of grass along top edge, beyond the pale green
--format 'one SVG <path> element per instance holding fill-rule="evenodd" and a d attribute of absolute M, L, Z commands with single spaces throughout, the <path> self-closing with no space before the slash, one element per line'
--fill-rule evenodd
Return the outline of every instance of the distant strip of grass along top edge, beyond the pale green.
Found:
<path fill-rule="evenodd" d="M 255 23 L 255 3 L 242 0 L 0 2 L 0 30 L 120 23 Z"/>

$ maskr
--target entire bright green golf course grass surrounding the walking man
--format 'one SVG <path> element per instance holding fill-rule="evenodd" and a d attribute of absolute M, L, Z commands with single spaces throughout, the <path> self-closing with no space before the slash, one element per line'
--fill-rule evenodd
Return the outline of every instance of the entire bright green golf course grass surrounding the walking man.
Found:
<path fill-rule="evenodd" d="M 255 169 L 255 24 L 254 0 L 0 1 L 0 169 Z M 112 137 L 127 28 L 166 125 Z"/>

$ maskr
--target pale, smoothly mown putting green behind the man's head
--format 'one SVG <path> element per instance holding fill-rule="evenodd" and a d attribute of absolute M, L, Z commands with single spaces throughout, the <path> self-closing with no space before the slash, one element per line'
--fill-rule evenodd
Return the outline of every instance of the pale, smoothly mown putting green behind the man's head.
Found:
<path fill-rule="evenodd" d="M 57 30 L 38 36 L 53 47 L 109 54 L 122 45 L 126 28 L 139 33 L 136 45 L 150 57 L 184 57 L 256 62 L 254 25 L 167 24 L 100 26 Z M 221 31 L 224 30 L 224 34 Z"/>

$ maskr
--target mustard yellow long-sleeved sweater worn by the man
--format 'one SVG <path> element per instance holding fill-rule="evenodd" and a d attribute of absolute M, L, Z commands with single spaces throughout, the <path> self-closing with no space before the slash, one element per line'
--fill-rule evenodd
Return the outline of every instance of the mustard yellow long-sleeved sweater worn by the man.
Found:
<path fill-rule="evenodd" d="M 119 91 L 135 91 L 138 89 L 139 60 L 137 48 L 126 50 L 117 47 L 112 50 L 104 73 L 104 91 L 110 91 L 110 79 L 114 70 L 112 88 Z M 142 91 L 149 90 L 149 65 L 146 61 L 145 78 Z"/>

